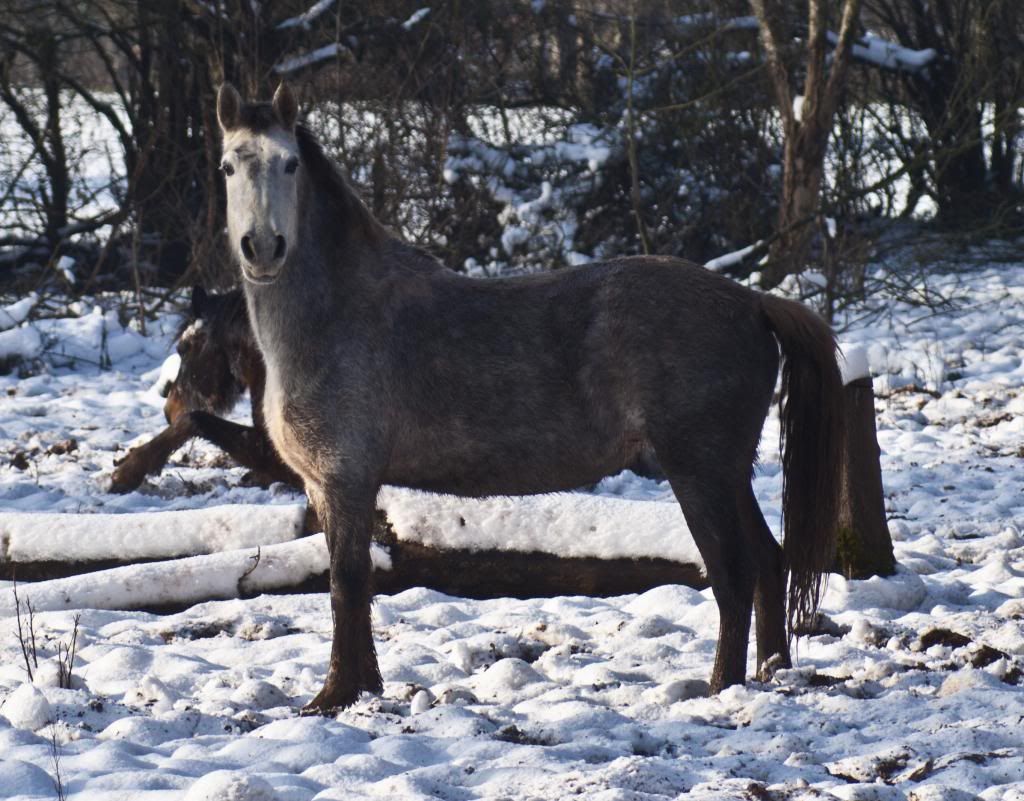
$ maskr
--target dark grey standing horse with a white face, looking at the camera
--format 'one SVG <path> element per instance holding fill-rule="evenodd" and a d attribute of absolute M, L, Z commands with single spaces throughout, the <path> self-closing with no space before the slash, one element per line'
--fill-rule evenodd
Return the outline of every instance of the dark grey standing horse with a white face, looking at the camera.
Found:
<path fill-rule="evenodd" d="M 841 379 L 806 307 L 688 262 L 473 280 L 390 236 L 304 127 L 217 101 L 227 228 L 266 365 L 263 411 L 331 553 L 334 639 L 309 711 L 379 691 L 370 535 L 382 483 L 466 496 L 579 487 L 654 452 L 720 613 L 711 689 L 788 665 L 833 561 Z M 784 551 L 751 488 L 782 361 Z M 625 533 L 624 533 L 625 536 Z"/>

